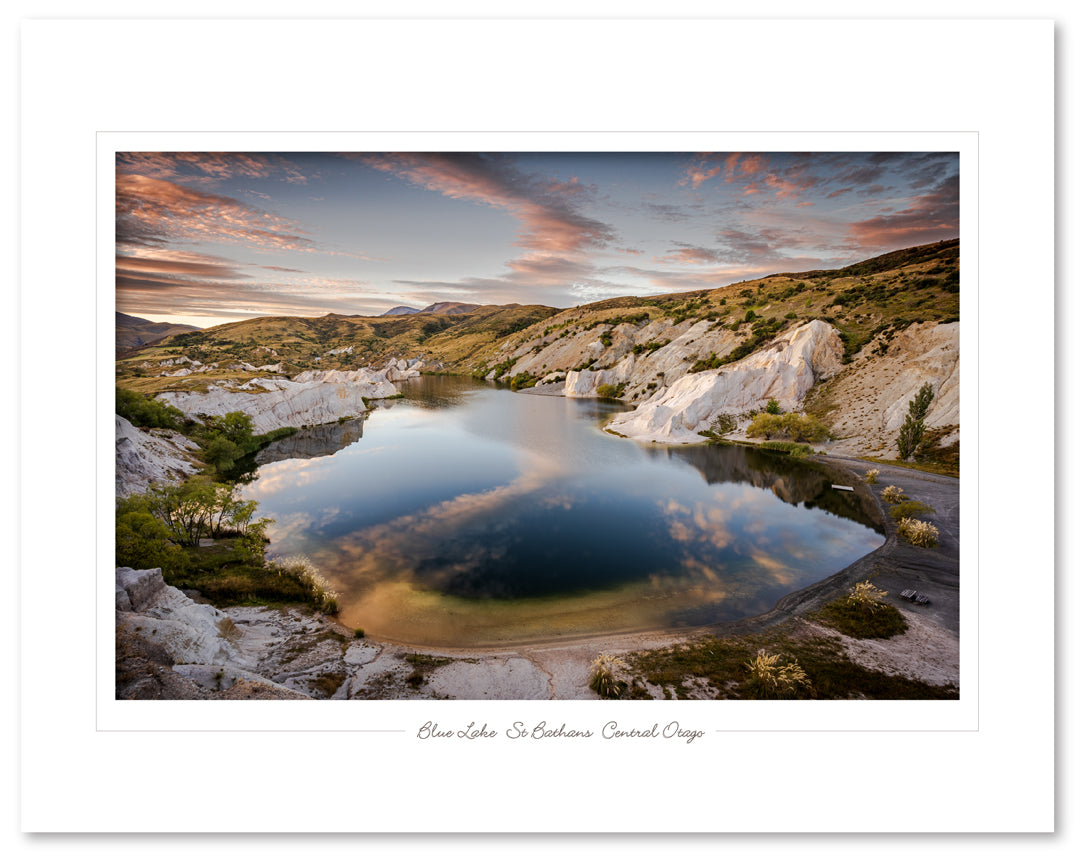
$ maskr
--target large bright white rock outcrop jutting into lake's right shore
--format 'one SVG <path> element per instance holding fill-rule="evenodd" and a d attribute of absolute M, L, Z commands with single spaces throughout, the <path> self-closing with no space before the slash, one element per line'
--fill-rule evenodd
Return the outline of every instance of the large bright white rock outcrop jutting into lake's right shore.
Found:
<path fill-rule="evenodd" d="M 642 441 L 698 443 L 699 431 L 721 413 L 760 409 L 773 398 L 785 412 L 798 408 L 814 382 L 840 369 L 842 359 L 839 333 L 814 320 L 719 371 L 680 377 L 608 427 Z"/>

